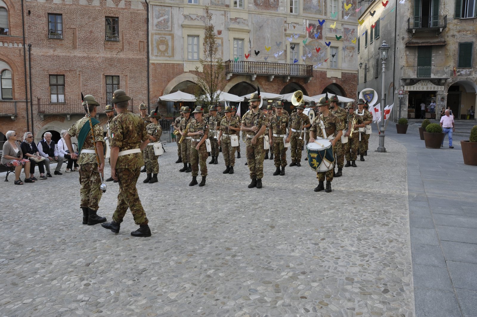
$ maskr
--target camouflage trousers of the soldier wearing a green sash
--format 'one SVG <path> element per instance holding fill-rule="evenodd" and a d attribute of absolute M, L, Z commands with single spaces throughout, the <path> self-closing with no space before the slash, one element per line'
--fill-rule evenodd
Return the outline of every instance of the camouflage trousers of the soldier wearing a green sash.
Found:
<path fill-rule="evenodd" d="M 98 165 L 87 163 L 80 165 L 80 207 L 99 209 L 99 201 L 103 195 L 100 189 L 101 178 L 98 172 Z"/>

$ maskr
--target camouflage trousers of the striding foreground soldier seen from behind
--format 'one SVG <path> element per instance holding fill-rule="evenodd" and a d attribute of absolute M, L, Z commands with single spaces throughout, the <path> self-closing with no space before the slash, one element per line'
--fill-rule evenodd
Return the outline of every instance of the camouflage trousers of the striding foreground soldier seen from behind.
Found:
<path fill-rule="evenodd" d="M 136 169 L 116 169 L 119 180 L 118 204 L 113 214 L 113 221 L 123 222 L 127 208 L 133 214 L 135 224 L 147 224 L 147 217 L 143 205 L 137 194 L 136 183 L 141 170 Z"/>

